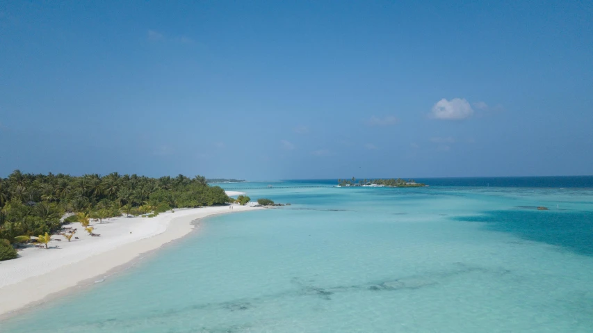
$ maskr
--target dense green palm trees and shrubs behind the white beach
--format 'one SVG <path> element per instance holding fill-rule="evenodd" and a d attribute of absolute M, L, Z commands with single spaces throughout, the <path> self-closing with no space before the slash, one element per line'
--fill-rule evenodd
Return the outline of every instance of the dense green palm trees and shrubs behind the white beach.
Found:
<path fill-rule="evenodd" d="M 249 200 L 247 200 L 248 202 Z M 178 207 L 225 204 L 229 197 L 206 178 L 149 178 L 136 174 L 106 176 L 86 174 L 24 174 L 16 170 L 0 178 L 0 238 L 23 243 L 31 236 L 52 234 L 61 229 L 60 218 L 76 213 L 64 222 L 105 218 L 126 214 L 156 214 Z"/>

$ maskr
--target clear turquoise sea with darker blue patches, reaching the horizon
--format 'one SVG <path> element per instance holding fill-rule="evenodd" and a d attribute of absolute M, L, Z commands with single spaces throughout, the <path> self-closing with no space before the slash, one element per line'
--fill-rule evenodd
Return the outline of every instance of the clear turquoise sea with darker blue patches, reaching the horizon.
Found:
<path fill-rule="evenodd" d="M 593 177 L 416 180 L 220 184 L 291 205 L 206 219 L 0 332 L 593 332 Z"/>

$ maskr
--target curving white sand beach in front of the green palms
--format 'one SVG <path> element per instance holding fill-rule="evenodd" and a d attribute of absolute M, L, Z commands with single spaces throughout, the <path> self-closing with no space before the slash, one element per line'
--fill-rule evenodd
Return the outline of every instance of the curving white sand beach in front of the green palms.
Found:
<path fill-rule="evenodd" d="M 238 204 L 233 208 L 178 209 L 155 218 L 122 216 L 103 223 L 92 222 L 100 237 L 88 235 L 79 223 L 67 225 L 78 229 L 75 236 L 79 239 L 68 242 L 55 235 L 49 249 L 28 247 L 19 252 L 17 259 L 0 263 L 0 318 L 30 304 L 49 301 L 49 295 L 75 288 L 79 282 L 104 279 L 109 270 L 188 234 L 194 228 L 194 220 L 257 209 Z"/>

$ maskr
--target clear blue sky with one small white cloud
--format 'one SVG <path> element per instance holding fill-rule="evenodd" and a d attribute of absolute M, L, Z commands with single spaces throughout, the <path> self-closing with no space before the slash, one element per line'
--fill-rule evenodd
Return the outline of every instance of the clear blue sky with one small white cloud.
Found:
<path fill-rule="evenodd" d="M 593 174 L 591 1 L 0 0 L 0 177 Z"/>

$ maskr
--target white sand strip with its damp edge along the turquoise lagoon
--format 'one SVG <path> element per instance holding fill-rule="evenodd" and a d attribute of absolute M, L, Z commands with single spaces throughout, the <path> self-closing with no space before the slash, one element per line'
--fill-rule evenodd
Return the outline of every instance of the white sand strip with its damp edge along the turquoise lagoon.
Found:
<path fill-rule="evenodd" d="M 91 241 L 88 239 L 81 239 L 81 243 L 86 241 L 86 244 L 72 245 L 74 242 L 70 243 L 67 246 L 69 248 L 65 249 L 70 250 L 67 254 L 54 252 L 54 249 L 27 249 L 29 252 L 35 253 L 28 253 L 26 257 L 23 256 L 24 258 L 13 259 L 13 263 L 8 267 L 6 267 L 5 263 L 10 263 L 10 261 L 3 261 L 0 264 L 0 277 L 3 277 L 3 279 L 0 279 L 0 299 L 3 300 L 0 302 L 0 320 L 17 316 L 23 311 L 47 304 L 54 298 L 65 295 L 65 293 L 79 291 L 81 288 L 91 286 L 101 279 L 121 273 L 138 261 L 145 259 L 150 252 L 159 250 L 164 245 L 177 241 L 197 230 L 197 226 L 200 225 L 200 221 L 204 218 L 225 213 L 258 210 L 258 208 L 250 206 L 235 204 L 233 206 L 233 210 L 229 209 L 229 206 L 210 206 L 181 209 L 177 210 L 176 213 L 163 213 L 160 220 L 154 221 L 156 223 L 153 224 L 156 225 L 156 228 L 152 230 L 151 234 L 141 235 L 140 238 L 120 238 L 117 239 L 120 243 L 116 244 L 109 242 L 111 241 L 109 238 L 101 236 L 99 239 L 92 240 L 95 241 L 95 244 L 90 244 Z M 159 216 L 156 218 L 159 218 Z M 151 220 L 156 218 L 133 218 L 135 220 L 133 222 L 136 222 L 136 224 L 132 226 L 126 225 L 127 220 L 131 220 L 131 218 L 115 218 L 108 222 L 111 222 L 110 224 L 120 222 L 122 226 L 118 226 L 117 231 L 121 231 L 122 227 L 144 227 L 145 223 L 152 222 Z M 103 225 L 95 223 L 95 225 L 101 228 L 107 227 L 107 223 Z M 113 227 L 112 229 L 116 228 Z M 99 230 L 102 231 L 103 229 Z M 132 233 L 130 232 L 130 234 Z M 86 238 L 90 238 L 90 236 Z M 55 245 L 54 243 L 57 242 L 52 242 L 51 245 Z M 62 243 L 60 245 L 67 244 Z M 97 246 L 98 243 L 101 243 L 100 247 Z M 83 254 L 79 251 L 73 252 L 72 249 L 83 250 Z M 84 250 L 87 253 L 84 253 Z M 88 251 L 92 250 L 97 252 L 88 253 Z M 19 259 L 22 261 L 19 261 Z M 34 263 L 40 259 L 47 261 L 51 264 L 51 267 L 43 267 L 40 272 L 35 271 L 35 273 L 26 270 L 29 266 L 35 268 Z M 19 273 L 22 273 L 22 275 L 15 276 L 19 275 Z"/>

